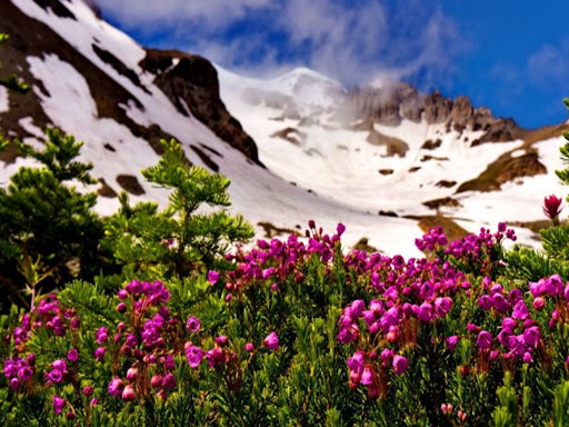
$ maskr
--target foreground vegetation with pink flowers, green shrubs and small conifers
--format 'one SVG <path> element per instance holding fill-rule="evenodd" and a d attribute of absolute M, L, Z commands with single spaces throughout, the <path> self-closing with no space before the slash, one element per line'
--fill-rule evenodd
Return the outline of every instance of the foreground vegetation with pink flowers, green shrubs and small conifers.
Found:
<path fill-rule="evenodd" d="M 421 259 L 347 251 L 312 220 L 244 247 L 229 180 L 176 141 L 143 171 L 169 206 L 108 218 L 81 143 L 12 143 L 38 166 L 0 190 L 3 426 L 569 425 L 560 198 L 540 251 L 505 250 L 505 224 L 435 227 Z"/>

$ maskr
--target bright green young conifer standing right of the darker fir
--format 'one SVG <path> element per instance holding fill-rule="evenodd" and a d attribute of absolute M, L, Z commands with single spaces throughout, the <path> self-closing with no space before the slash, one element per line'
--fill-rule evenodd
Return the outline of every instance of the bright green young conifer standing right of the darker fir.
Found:
<path fill-rule="evenodd" d="M 158 165 L 142 171 L 150 181 L 171 190 L 170 203 L 144 202 L 131 207 L 120 196 L 120 210 L 106 225 L 103 245 L 122 266 L 126 276 L 177 276 L 221 267 L 230 245 L 253 236 L 241 216 L 231 216 L 227 188 L 220 173 L 190 166 L 177 141 L 162 141 Z"/>

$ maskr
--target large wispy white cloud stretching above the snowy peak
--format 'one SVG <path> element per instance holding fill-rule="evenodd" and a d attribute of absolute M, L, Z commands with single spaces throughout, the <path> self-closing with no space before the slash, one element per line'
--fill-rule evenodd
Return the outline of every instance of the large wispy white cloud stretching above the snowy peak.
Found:
<path fill-rule="evenodd" d="M 246 72 L 303 64 L 347 85 L 378 77 L 428 83 L 451 70 L 461 44 L 439 0 L 92 1 L 162 48 Z"/>

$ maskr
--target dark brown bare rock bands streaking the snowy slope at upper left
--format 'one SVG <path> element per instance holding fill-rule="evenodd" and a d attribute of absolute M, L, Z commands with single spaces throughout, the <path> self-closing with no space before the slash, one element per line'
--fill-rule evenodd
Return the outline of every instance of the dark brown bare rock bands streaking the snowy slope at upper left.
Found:
<path fill-rule="evenodd" d="M 68 10 L 63 3 L 57 0 L 38 0 L 38 2 L 41 7 L 51 10 L 60 10 L 60 8 L 64 8 L 61 10 Z M 66 16 L 64 19 L 72 18 Z M 138 108 L 143 108 L 136 96 L 80 54 L 51 28 L 22 13 L 11 1 L 0 1 L 0 31 L 10 34 L 9 47 L 2 49 L 2 56 L 0 57 L 3 67 L 2 73 L 17 73 L 23 81 L 38 88 L 44 96 L 50 97 L 51 93 L 48 93 L 42 82 L 31 73 L 27 58 L 43 58 L 47 54 L 56 54 L 62 61 L 70 63 L 86 78 L 90 95 L 97 105 L 99 118 L 111 118 L 127 126 L 136 137 L 147 140 L 157 152 L 161 152 L 160 139 L 172 138 L 158 125 L 144 127 L 134 122 L 120 106 L 133 103 Z M 98 54 L 108 58 L 108 62 L 113 62 L 112 66 L 116 69 L 123 71 L 121 73 L 129 73 L 130 71 L 130 75 L 133 75 L 133 71 L 128 70 L 119 59 L 106 56 L 103 50 L 100 49 Z M 33 137 L 21 125 L 21 119 L 26 117 L 32 117 L 34 126 L 40 129 L 53 126 L 43 111 L 39 96 L 36 91 L 30 91 L 26 96 L 10 96 L 10 109 L 0 113 L 0 133 L 20 139 Z M 2 153 L 1 159 L 10 161 L 14 156 L 16 153 L 9 149 Z"/>

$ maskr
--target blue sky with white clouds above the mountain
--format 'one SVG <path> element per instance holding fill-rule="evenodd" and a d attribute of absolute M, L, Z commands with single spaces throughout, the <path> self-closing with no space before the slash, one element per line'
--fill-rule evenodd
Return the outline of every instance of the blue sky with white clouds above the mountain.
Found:
<path fill-rule="evenodd" d="M 89 0 L 140 44 L 249 77 L 296 67 L 466 95 L 537 128 L 569 119 L 567 0 Z"/>

